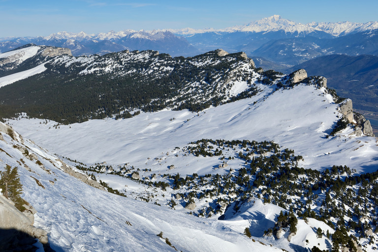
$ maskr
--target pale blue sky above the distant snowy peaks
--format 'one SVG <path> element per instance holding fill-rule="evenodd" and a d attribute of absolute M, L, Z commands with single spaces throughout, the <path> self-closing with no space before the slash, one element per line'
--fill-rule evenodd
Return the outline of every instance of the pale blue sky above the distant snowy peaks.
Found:
<path fill-rule="evenodd" d="M 378 21 L 378 0 L 0 0 L 0 37 L 226 28 L 274 14 L 299 23 Z"/>

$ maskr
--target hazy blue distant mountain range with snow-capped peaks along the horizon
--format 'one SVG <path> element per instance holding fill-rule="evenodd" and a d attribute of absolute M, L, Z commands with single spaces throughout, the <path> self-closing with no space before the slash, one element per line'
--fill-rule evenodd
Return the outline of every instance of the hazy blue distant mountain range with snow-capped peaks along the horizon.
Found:
<path fill-rule="evenodd" d="M 191 57 L 221 48 L 293 66 L 329 54 L 378 55 L 377 29 L 378 22 L 300 24 L 274 15 L 220 30 L 58 32 L 46 37 L 1 38 L 0 52 L 29 43 L 69 48 L 74 56 L 157 50 L 172 56 Z"/>

